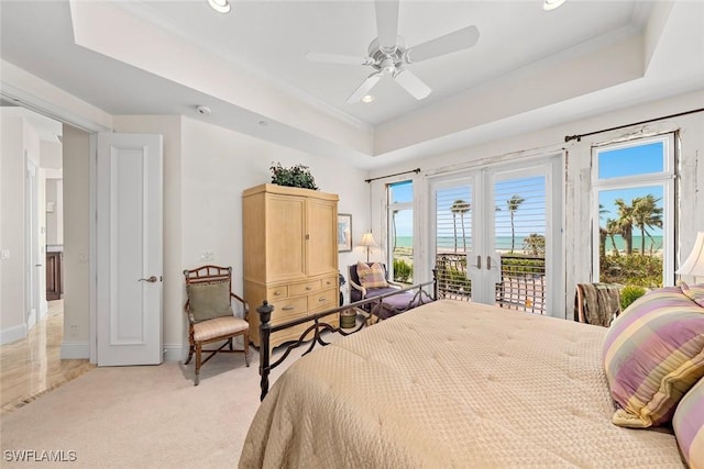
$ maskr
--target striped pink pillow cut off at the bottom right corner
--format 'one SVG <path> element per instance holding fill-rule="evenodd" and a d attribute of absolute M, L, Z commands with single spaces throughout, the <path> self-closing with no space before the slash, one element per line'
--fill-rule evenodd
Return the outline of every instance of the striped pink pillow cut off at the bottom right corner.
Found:
<path fill-rule="evenodd" d="M 693 469 L 704 468 L 704 379 L 682 398 L 672 428 L 686 464 Z"/>

